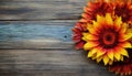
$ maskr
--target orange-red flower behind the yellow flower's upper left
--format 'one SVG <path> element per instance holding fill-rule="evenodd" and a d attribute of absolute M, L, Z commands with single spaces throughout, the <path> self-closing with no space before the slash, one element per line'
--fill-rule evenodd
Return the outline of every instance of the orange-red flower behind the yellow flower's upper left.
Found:
<path fill-rule="evenodd" d="M 94 0 L 88 2 L 87 7 L 84 8 L 82 19 L 79 22 L 91 22 L 96 20 L 97 14 L 105 15 L 106 13 L 112 13 L 113 7 L 109 0 Z"/>

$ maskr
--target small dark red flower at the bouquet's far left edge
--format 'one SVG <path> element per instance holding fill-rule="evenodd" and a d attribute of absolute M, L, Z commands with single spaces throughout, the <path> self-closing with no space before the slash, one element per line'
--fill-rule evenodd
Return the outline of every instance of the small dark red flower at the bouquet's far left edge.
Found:
<path fill-rule="evenodd" d="M 82 48 L 84 44 L 86 43 L 82 37 L 82 32 L 86 32 L 86 25 L 81 22 L 77 22 L 76 25 L 73 28 L 73 41 L 76 43 L 75 48 L 79 50 Z"/>

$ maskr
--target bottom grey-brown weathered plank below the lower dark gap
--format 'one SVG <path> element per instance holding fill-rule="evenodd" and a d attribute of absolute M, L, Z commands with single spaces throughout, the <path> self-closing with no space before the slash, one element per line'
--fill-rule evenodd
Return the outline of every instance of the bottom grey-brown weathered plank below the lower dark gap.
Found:
<path fill-rule="evenodd" d="M 87 59 L 86 52 L 0 50 L 0 75 L 6 76 L 114 76 Z"/>

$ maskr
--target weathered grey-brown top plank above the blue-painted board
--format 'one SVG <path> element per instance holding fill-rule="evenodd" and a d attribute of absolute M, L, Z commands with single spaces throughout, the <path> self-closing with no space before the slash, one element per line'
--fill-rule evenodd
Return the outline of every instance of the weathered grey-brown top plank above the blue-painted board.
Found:
<path fill-rule="evenodd" d="M 87 0 L 6 0 L 0 20 L 77 20 Z"/>

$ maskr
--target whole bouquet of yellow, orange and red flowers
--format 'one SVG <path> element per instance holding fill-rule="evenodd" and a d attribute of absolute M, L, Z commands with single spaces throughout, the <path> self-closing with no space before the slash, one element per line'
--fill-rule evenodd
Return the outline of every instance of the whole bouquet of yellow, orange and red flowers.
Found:
<path fill-rule="evenodd" d="M 132 75 L 132 1 L 90 0 L 73 28 L 73 41 L 110 72 Z"/>

